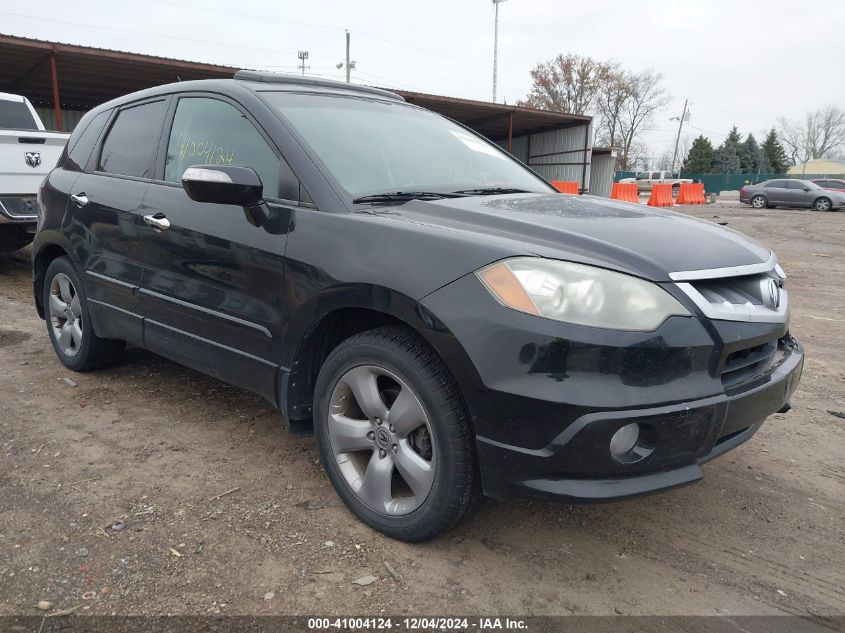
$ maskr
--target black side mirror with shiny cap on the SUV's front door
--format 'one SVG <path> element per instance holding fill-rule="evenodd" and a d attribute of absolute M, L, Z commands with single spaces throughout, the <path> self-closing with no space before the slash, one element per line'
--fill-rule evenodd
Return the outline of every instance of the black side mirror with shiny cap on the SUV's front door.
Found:
<path fill-rule="evenodd" d="M 182 174 L 182 187 L 191 200 L 243 207 L 253 226 L 269 217 L 264 185 L 254 169 L 230 165 L 194 165 Z"/>

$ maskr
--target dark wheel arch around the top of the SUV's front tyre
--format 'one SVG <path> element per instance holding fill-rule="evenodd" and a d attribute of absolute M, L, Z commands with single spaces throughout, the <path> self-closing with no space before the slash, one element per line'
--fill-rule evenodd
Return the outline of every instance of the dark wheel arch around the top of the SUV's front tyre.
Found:
<path fill-rule="evenodd" d="M 389 296 L 390 301 L 356 301 L 352 300 L 356 293 L 352 293 L 347 301 L 339 302 L 335 296 L 331 307 L 324 310 L 313 311 L 313 307 L 303 306 L 300 312 L 306 310 L 314 317 L 305 327 L 296 327 L 294 320 L 288 328 L 284 347 L 290 350 L 291 356 L 287 360 L 289 364 L 284 364 L 289 370 L 280 373 L 278 404 L 290 432 L 300 436 L 311 434 L 314 386 L 329 354 L 354 334 L 389 325 L 407 328 L 434 350 L 454 380 L 472 419 L 465 390 L 480 384 L 481 379 L 455 336 L 434 314 L 410 297 L 386 289 L 371 289 L 367 294 L 370 297 Z M 317 304 L 320 303 L 318 299 Z"/>

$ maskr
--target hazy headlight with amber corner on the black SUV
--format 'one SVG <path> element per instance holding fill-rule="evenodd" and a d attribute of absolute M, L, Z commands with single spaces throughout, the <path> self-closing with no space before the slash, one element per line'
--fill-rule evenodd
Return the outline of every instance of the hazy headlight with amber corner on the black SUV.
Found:
<path fill-rule="evenodd" d="M 475 274 L 502 305 L 576 325 L 649 332 L 690 314 L 655 283 L 584 264 L 518 257 Z"/>

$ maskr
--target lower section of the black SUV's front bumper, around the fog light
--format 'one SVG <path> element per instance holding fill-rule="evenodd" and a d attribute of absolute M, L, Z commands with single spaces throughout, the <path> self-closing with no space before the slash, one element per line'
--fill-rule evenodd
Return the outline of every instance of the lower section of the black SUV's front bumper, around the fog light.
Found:
<path fill-rule="evenodd" d="M 587 414 L 541 449 L 526 450 L 479 437 L 485 492 L 497 498 L 600 502 L 698 481 L 704 476 L 700 464 L 751 438 L 769 415 L 788 403 L 803 364 L 803 350 L 795 342 L 764 381 L 746 391 L 663 407 Z M 590 476 L 589 470 L 574 477 L 567 472 L 573 460 L 580 462 L 584 456 L 604 453 L 598 463 L 614 459 L 608 448 L 610 437 L 631 422 L 648 430 L 653 445 L 638 472 L 610 477 L 598 472 Z"/>

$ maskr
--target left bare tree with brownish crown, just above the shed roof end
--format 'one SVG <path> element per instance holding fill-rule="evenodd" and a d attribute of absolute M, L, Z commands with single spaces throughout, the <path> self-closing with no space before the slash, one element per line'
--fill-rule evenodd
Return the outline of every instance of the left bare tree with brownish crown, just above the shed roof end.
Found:
<path fill-rule="evenodd" d="M 519 105 L 543 110 L 586 114 L 608 73 L 608 65 L 592 57 L 558 55 L 531 71 L 534 83 Z"/>

